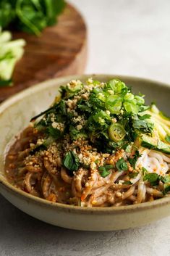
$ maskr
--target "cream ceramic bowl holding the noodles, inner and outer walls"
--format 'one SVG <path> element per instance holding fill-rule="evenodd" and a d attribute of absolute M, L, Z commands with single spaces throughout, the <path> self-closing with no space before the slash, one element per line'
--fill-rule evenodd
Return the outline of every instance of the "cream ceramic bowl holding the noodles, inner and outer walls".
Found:
<path fill-rule="evenodd" d="M 157 199 L 140 205 L 121 207 L 82 208 L 33 197 L 8 183 L 4 176 L 4 151 L 9 141 L 25 128 L 38 112 L 46 110 L 53 102 L 60 85 L 72 79 L 106 81 L 119 78 L 132 86 L 133 91 L 145 94 L 146 102 L 154 101 L 163 112 L 169 114 L 170 87 L 163 83 L 141 78 L 119 75 L 80 75 L 57 78 L 28 88 L 13 96 L 0 106 L 0 192 L 13 205 L 23 212 L 64 228 L 83 231 L 113 231 L 117 229 L 143 226 L 170 214 L 170 197 Z M 3 209 L 1 209 L 3 210 Z"/>

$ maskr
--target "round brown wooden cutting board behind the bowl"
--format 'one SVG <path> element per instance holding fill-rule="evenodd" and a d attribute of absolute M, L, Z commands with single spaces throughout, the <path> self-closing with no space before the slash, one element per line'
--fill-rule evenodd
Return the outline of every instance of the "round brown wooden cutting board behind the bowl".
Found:
<path fill-rule="evenodd" d="M 87 59 L 87 29 L 80 13 L 67 4 L 58 23 L 40 37 L 16 32 L 25 38 L 25 54 L 17 63 L 14 86 L 0 88 L 0 102 L 35 83 L 63 75 L 81 74 Z"/>

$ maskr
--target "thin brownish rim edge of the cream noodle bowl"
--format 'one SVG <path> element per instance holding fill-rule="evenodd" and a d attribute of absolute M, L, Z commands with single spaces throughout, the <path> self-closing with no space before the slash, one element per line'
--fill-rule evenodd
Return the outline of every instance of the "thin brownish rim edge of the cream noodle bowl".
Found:
<path fill-rule="evenodd" d="M 42 83 L 38 83 L 35 86 L 32 86 L 30 88 L 26 88 L 25 90 L 21 91 L 20 93 L 15 94 L 14 96 L 11 96 L 9 99 L 4 101 L 3 103 L 0 104 L 0 120 L 1 120 L 1 114 L 4 110 L 6 110 L 8 107 L 12 107 L 13 104 L 16 104 L 18 100 L 21 98 L 38 92 L 41 88 L 46 88 L 46 86 L 50 86 L 50 83 L 56 81 L 56 83 L 64 83 L 64 80 L 72 80 L 72 79 L 85 79 L 89 77 L 103 77 L 106 76 L 107 78 L 113 78 L 113 77 L 118 77 L 122 80 L 134 80 L 137 82 L 145 82 L 145 83 L 152 83 L 155 86 L 163 88 L 169 88 L 170 91 L 170 85 L 166 83 L 161 83 L 156 80 L 150 80 L 147 78 L 139 78 L 139 77 L 134 77 L 134 76 L 128 76 L 128 75 L 111 75 L 111 74 L 90 74 L 90 75 L 69 75 L 69 76 L 64 76 L 61 78 L 54 78 L 51 80 L 46 80 Z M 80 206 L 74 206 L 74 205 L 64 205 L 61 203 L 57 202 L 50 202 L 46 199 L 42 199 L 40 197 L 35 197 L 31 194 L 28 194 L 25 191 L 22 191 L 20 189 L 17 189 L 16 187 L 12 186 L 6 178 L 2 178 L 0 176 L 0 186 L 4 186 L 4 189 L 7 189 L 7 191 L 14 193 L 17 197 L 20 197 L 22 199 L 27 200 L 28 202 L 35 202 L 38 205 L 46 205 L 46 207 L 53 207 L 56 208 L 56 210 L 59 211 L 66 211 L 66 212 L 75 212 L 75 213 L 83 213 L 83 214 L 95 214 L 102 215 L 104 214 L 121 214 L 123 212 L 138 212 L 138 211 L 145 211 L 150 208 L 157 208 L 161 207 L 162 205 L 170 205 L 170 196 L 163 197 L 161 199 L 156 199 L 153 202 L 144 202 L 142 204 L 137 204 L 137 205 L 127 205 L 127 206 L 119 206 L 119 207 L 80 207 Z"/>

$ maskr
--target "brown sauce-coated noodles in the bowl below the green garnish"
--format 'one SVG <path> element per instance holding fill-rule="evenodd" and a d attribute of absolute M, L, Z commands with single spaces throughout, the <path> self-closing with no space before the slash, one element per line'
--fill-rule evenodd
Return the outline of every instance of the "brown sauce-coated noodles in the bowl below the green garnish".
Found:
<path fill-rule="evenodd" d="M 153 149 L 139 148 L 135 170 L 116 170 L 111 168 L 102 177 L 97 168 L 79 168 L 72 175 L 62 165 L 62 155 L 57 145 L 32 156 L 28 141 L 35 141 L 38 135 L 27 129 L 9 150 L 6 162 L 7 177 L 15 186 L 53 202 L 86 207 L 107 207 L 148 202 L 163 197 L 163 183 L 157 188 L 143 180 L 143 168 L 149 173 L 165 176 L 169 173 L 170 157 Z M 21 141 L 21 143 L 19 143 Z M 127 160 L 129 153 L 101 154 L 105 161 L 121 157 Z M 107 158 L 108 157 L 108 158 Z M 132 172 L 132 173 L 131 173 Z M 132 178 L 131 174 L 136 174 Z"/>

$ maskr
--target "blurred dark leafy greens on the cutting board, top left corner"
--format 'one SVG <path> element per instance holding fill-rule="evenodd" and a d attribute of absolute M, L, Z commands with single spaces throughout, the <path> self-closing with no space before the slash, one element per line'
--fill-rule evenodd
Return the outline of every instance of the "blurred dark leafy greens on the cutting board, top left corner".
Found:
<path fill-rule="evenodd" d="M 39 36 L 44 28 L 56 23 L 64 7 L 64 0 L 1 0 L 0 26 Z"/>

